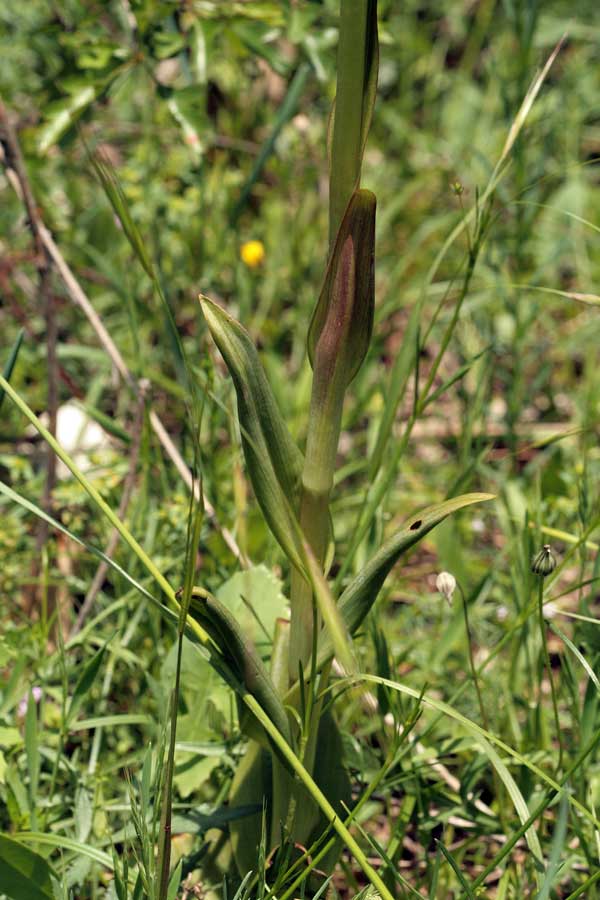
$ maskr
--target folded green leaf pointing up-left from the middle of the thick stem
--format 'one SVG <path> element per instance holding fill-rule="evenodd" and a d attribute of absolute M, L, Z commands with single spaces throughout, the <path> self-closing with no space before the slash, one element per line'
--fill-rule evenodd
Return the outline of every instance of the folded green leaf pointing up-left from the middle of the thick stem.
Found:
<path fill-rule="evenodd" d="M 207 297 L 200 304 L 210 333 L 233 378 L 248 474 L 281 547 L 299 569 L 295 507 L 303 458 L 279 412 L 258 353 L 244 328 Z"/>

